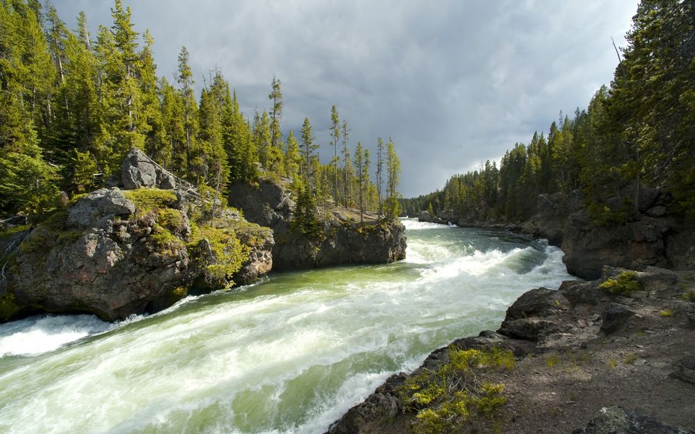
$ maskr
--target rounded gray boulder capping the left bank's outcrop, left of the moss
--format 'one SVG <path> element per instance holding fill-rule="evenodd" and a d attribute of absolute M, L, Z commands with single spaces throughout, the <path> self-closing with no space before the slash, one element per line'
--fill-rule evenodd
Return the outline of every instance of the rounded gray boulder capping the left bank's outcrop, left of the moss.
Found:
<path fill-rule="evenodd" d="M 117 187 L 102 188 L 87 194 L 67 210 L 67 223 L 81 227 L 101 227 L 113 217 L 128 217 L 135 203 L 126 199 Z"/>

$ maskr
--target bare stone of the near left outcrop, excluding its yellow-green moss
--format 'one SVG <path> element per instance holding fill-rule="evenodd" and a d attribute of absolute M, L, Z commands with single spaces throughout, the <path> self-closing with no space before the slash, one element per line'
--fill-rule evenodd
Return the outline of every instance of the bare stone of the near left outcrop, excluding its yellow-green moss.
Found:
<path fill-rule="evenodd" d="M 162 210 L 136 213 L 123 192 L 101 189 L 22 233 L 10 278 L 0 282 L 0 321 L 35 312 L 91 312 L 114 321 L 167 308 L 186 297 L 194 282 L 202 282 L 197 292 L 223 287 L 224 279 L 206 279 L 208 266 L 218 261 L 210 243 L 203 238 L 199 248 L 188 247 L 186 207 L 180 200 L 170 206 L 177 208 L 164 210 L 170 219 L 165 223 L 158 220 Z M 249 254 L 235 283 L 270 271 L 270 229 L 231 212 L 222 212 L 214 224 L 231 228 Z M 207 251 L 200 246 L 205 242 Z"/>

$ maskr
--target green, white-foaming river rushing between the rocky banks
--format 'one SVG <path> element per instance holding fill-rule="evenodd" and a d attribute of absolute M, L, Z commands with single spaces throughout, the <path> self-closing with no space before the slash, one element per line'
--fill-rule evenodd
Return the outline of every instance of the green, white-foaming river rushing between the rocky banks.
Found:
<path fill-rule="evenodd" d="M 106 324 L 0 326 L 0 433 L 322 433 L 394 372 L 569 279 L 544 242 L 407 220 L 407 260 L 272 274 Z"/>

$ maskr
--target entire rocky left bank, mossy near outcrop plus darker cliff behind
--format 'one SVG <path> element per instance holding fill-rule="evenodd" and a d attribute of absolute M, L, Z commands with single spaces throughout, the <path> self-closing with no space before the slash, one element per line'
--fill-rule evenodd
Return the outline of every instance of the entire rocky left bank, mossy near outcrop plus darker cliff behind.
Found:
<path fill-rule="evenodd" d="M 35 226 L 0 228 L 0 322 L 44 312 L 115 321 L 251 283 L 271 269 L 405 256 L 397 221 L 359 223 L 334 208 L 310 237 L 293 230 L 294 203 L 281 184 L 231 190 L 240 210 L 202 197 L 133 149 L 120 187 L 76 197 Z"/>

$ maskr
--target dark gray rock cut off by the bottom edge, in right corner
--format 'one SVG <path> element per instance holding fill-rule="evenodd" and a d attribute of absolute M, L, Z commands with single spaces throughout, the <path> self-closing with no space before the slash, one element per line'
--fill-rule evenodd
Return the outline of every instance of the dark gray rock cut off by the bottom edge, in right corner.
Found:
<path fill-rule="evenodd" d="M 652 417 L 622 407 L 602 408 L 600 415 L 572 434 L 695 434 L 695 431 L 662 424 Z"/>

